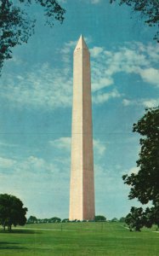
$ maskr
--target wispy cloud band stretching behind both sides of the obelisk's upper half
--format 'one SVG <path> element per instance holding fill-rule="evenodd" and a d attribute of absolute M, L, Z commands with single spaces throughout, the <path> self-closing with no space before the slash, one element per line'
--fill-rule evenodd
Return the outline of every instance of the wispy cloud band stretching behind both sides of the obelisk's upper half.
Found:
<path fill-rule="evenodd" d="M 71 107 L 71 59 L 76 43 L 67 42 L 59 49 L 63 60 L 61 67 L 53 68 L 50 64 L 44 63 L 42 66 L 32 67 L 23 75 L 10 73 L 3 77 L 0 97 L 9 101 L 9 106 L 16 108 Z M 133 42 L 112 50 L 94 46 L 90 52 L 94 104 L 122 97 L 115 87 L 116 73 L 138 74 L 144 82 L 158 86 L 159 71 L 156 66 L 159 61 L 159 49 L 156 46 Z M 104 89 L 108 86 L 109 91 L 105 92 Z M 122 103 L 128 106 L 128 99 L 124 99 Z M 147 99 L 145 103 L 151 104 Z"/>

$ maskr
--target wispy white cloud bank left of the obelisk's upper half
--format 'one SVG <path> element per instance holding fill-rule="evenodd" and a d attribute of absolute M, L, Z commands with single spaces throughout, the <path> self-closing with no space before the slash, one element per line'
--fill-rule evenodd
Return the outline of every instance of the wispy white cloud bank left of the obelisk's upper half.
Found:
<path fill-rule="evenodd" d="M 48 63 L 33 68 L 23 77 L 8 76 L 3 79 L 1 97 L 9 100 L 14 107 L 65 108 L 71 106 L 72 79 L 65 69 L 53 70 Z"/>

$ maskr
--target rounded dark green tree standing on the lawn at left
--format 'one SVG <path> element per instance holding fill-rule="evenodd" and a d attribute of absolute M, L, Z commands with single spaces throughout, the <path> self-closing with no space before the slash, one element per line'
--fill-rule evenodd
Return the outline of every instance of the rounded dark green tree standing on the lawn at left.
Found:
<path fill-rule="evenodd" d="M 26 224 L 27 208 L 23 207 L 22 201 L 14 195 L 0 195 L 0 224 L 11 230 L 12 225 Z"/>

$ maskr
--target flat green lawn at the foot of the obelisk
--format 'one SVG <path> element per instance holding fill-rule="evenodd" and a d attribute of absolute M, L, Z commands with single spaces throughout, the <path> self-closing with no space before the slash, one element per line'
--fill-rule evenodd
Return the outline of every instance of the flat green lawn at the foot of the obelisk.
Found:
<path fill-rule="evenodd" d="M 154 230 L 130 232 L 119 223 L 27 224 L 12 233 L 0 230 L 0 255 L 158 256 Z"/>

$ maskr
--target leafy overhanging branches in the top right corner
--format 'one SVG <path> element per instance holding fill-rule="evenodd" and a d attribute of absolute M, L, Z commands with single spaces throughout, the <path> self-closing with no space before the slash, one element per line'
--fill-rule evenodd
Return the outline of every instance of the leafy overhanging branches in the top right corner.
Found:
<path fill-rule="evenodd" d="M 111 3 L 116 0 L 110 0 Z M 120 5 L 123 3 L 131 6 L 133 11 L 140 13 L 142 18 L 145 18 L 145 23 L 148 26 L 159 27 L 159 1 L 158 0 L 120 0 Z M 154 39 L 159 43 L 159 30 L 157 30 Z"/>

